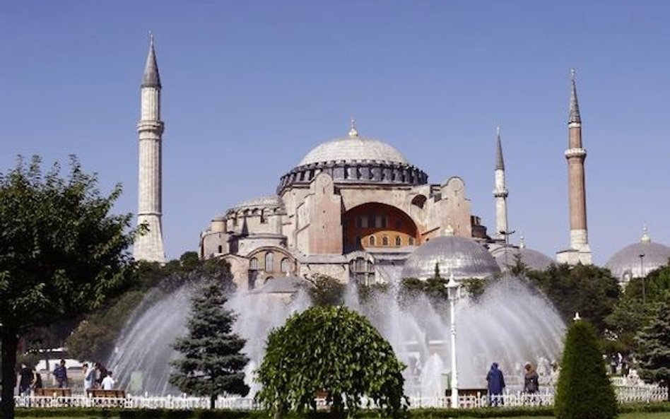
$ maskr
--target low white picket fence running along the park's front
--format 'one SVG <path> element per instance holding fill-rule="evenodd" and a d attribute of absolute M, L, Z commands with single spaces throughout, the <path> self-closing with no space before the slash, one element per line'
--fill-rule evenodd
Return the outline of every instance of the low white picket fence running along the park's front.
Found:
<path fill-rule="evenodd" d="M 668 400 L 668 388 L 653 385 L 616 386 L 619 403 L 650 403 Z M 15 396 L 16 406 L 33 408 L 160 408 L 160 409 L 196 409 L 209 408 L 206 397 L 188 396 L 127 396 L 126 398 L 75 396 Z M 489 400 L 486 394 L 459 396 L 459 408 L 481 408 L 490 406 L 553 406 L 553 389 L 544 389 L 536 394 L 522 392 L 507 393 Z M 410 408 L 447 408 L 451 406 L 451 398 L 444 397 L 409 397 Z M 366 403 L 363 403 L 365 406 Z M 317 406 L 325 406 L 325 400 L 317 400 Z M 259 410 L 261 407 L 251 398 L 219 397 L 216 408 L 237 410 Z"/>

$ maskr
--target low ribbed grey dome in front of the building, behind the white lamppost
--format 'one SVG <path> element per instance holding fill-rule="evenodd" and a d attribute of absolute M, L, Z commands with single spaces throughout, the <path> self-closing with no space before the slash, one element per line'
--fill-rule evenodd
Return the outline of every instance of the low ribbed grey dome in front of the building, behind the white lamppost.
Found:
<path fill-rule="evenodd" d="M 493 256 L 476 241 L 459 236 L 440 236 L 421 244 L 405 261 L 402 278 L 428 279 L 435 275 L 435 264 L 440 275 L 451 273 L 456 279 L 486 278 L 500 272 Z"/>

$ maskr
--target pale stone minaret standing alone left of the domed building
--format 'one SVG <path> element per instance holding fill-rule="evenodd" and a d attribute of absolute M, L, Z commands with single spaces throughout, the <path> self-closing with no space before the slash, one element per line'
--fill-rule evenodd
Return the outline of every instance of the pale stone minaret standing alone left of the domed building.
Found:
<path fill-rule="evenodd" d="M 160 143 L 163 135 L 160 121 L 160 77 L 153 49 L 153 35 L 146 66 L 142 76 L 141 117 L 137 123 L 139 133 L 139 199 L 137 223 L 146 224 L 148 232 L 135 240 L 136 260 L 165 262 L 163 250 L 162 215 L 162 162 Z"/>

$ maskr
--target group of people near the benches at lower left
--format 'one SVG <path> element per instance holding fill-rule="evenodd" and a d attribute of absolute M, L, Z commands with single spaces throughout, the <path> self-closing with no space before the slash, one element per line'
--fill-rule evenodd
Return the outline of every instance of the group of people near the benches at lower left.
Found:
<path fill-rule="evenodd" d="M 100 362 L 95 362 L 93 367 L 89 367 L 88 362 L 82 365 L 83 389 L 84 393 L 91 389 L 112 390 L 114 389 L 114 379 L 112 372 L 107 370 Z M 65 360 L 54 367 L 54 384 L 59 389 L 68 389 L 70 386 Z M 31 396 L 37 389 L 42 389 L 42 375 L 37 372 L 35 367 L 30 368 L 21 364 L 18 377 L 18 391 L 20 396 Z"/>

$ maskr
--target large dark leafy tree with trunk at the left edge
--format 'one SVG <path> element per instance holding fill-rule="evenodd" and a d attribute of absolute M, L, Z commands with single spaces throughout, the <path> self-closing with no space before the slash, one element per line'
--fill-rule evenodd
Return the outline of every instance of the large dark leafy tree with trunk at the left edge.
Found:
<path fill-rule="evenodd" d="M 18 336 L 100 307 L 127 279 L 131 214 L 112 216 L 121 194 L 98 190 L 76 158 L 61 177 L 55 164 L 42 172 L 40 158 L 19 158 L 0 173 L 0 324 L 2 413 L 14 415 Z"/>

